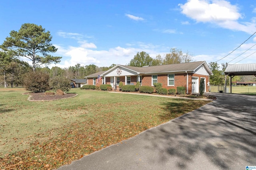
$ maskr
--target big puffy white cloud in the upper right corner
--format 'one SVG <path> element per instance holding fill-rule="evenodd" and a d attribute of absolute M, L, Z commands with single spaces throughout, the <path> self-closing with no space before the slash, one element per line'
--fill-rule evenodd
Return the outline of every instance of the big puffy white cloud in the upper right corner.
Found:
<path fill-rule="evenodd" d="M 179 4 L 182 14 L 192 18 L 196 22 L 209 22 L 220 27 L 254 33 L 255 23 L 242 22 L 243 15 L 239 13 L 236 5 L 230 4 L 225 0 L 188 0 L 186 4 Z"/>

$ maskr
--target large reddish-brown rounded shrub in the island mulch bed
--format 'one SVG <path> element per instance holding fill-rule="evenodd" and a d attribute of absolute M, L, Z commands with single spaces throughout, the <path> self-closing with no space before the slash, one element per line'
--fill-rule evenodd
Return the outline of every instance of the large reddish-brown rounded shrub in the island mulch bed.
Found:
<path fill-rule="evenodd" d="M 49 74 L 40 71 L 28 72 L 23 77 L 23 87 L 34 93 L 46 92 L 50 90 Z"/>

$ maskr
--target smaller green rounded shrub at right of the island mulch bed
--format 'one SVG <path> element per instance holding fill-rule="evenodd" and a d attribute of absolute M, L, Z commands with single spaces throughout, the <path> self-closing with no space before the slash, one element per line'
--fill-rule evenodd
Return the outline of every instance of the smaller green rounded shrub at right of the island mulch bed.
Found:
<path fill-rule="evenodd" d="M 54 76 L 50 78 L 50 88 L 56 92 L 58 89 L 66 93 L 70 90 L 70 79 L 64 76 Z"/>

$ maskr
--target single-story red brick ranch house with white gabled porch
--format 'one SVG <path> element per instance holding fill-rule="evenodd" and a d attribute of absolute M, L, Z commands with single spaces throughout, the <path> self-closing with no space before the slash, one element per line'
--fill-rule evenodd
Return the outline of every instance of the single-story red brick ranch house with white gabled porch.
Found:
<path fill-rule="evenodd" d="M 98 75 L 102 79 L 97 84 Z M 212 71 L 205 61 L 168 64 L 160 66 L 124 66 L 117 64 L 107 71 L 97 72 L 86 76 L 87 84 L 100 86 L 111 84 L 114 90 L 119 89 L 119 83 L 124 85 L 140 82 L 142 86 L 152 86 L 155 82 L 162 83 L 163 88 L 174 88 L 184 86 L 187 94 L 199 93 L 199 82 L 203 78 L 205 92 L 209 92 L 209 76 Z"/>

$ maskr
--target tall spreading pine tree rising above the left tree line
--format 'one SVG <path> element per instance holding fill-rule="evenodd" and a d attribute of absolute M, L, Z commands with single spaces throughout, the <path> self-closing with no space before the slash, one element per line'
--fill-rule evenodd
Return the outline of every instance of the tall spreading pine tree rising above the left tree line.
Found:
<path fill-rule="evenodd" d="M 32 61 L 33 71 L 41 64 L 60 63 L 62 57 L 54 57 L 48 53 L 57 51 L 50 41 L 50 31 L 34 23 L 24 23 L 19 31 L 11 31 L 1 45 L 5 51 L 13 51 L 19 57 L 26 57 Z"/>

